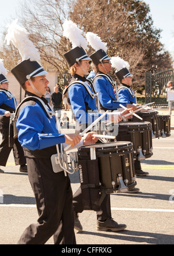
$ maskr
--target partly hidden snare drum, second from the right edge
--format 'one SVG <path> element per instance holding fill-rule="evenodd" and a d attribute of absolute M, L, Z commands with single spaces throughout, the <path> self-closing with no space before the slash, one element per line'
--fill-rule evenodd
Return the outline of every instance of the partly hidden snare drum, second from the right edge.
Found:
<path fill-rule="evenodd" d="M 158 112 L 157 111 L 137 112 L 137 115 L 139 115 L 141 118 L 143 118 L 143 121 L 151 123 L 152 138 L 159 138 L 161 136 L 160 128 L 158 125 Z M 136 116 L 133 116 L 132 120 L 137 121 Z"/>

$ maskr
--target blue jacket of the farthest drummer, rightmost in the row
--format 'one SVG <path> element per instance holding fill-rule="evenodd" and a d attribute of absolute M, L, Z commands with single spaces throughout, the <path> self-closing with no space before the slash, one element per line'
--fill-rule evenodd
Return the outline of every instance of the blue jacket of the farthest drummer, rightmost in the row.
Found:
<path fill-rule="evenodd" d="M 122 84 L 121 86 L 125 87 L 124 84 Z M 126 87 L 130 88 L 130 86 L 126 86 Z M 133 91 L 132 91 L 132 94 L 133 94 Z M 135 97 L 135 95 L 132 96 L 131 93 L 129 93 L 129 90 L 127 88 L 121 88 L 120 90 L 118 88 L 118 99 L 119 99 L 119 101 L 125 102 L 125 103 L 128 103 L 128 104 L 133 104 L 133 103 L 136 104 L 136 97 Z"/>

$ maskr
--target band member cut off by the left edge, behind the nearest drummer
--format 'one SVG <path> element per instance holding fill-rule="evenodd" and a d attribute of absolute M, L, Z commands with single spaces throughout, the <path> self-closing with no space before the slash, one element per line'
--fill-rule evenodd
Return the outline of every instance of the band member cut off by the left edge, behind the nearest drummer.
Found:
<path fill-rule="evenodd" d="M 7 70 L 3 66 L 3 60 L 0 59 L 0 132 L 2 142 L 0 144 L 0 166 L 6 166 L 11 150 L 15 165 L 20 165 L 20 172 L 27 172 L 26 157 L 17 138 L 14 139 L 13 145 L 9 145 L 9 123 L 10 115 L 15 112 L 17 102 L 16 98 L 8 91 L 9 81 L 6 79 Z M 13 140 L 13 138 L 10 138 Z M 4 171 L 0 168 L 0 173 Z"/>

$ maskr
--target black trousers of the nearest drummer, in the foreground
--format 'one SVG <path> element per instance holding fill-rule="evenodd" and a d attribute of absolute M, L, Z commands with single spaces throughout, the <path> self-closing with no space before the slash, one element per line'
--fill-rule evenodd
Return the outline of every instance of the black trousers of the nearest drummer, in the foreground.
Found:
<path fill-rule="evenodd" d="M 24 230 L 18 244 L 45 244 L 51 236 L 55 244 L 76 244 L 69 177 L 54 173 L 49 158 L 26 158 L 39 218 Z"/>

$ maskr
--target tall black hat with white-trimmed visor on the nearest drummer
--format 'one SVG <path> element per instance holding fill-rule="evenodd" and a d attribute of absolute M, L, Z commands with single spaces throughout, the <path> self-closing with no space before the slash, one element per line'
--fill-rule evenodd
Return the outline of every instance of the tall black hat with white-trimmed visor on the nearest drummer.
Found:
<path fill-rule="evenodd" d="M 44 67 L 42 67 L 37 61 L 30 61 L 30 59 L 20 62 L 17 66 L 13 67 L 11 72 L 14 77 L 16 77 L 17 81 L 19 81 L 20 86 L 32 77 L 48 74 Z"/>

